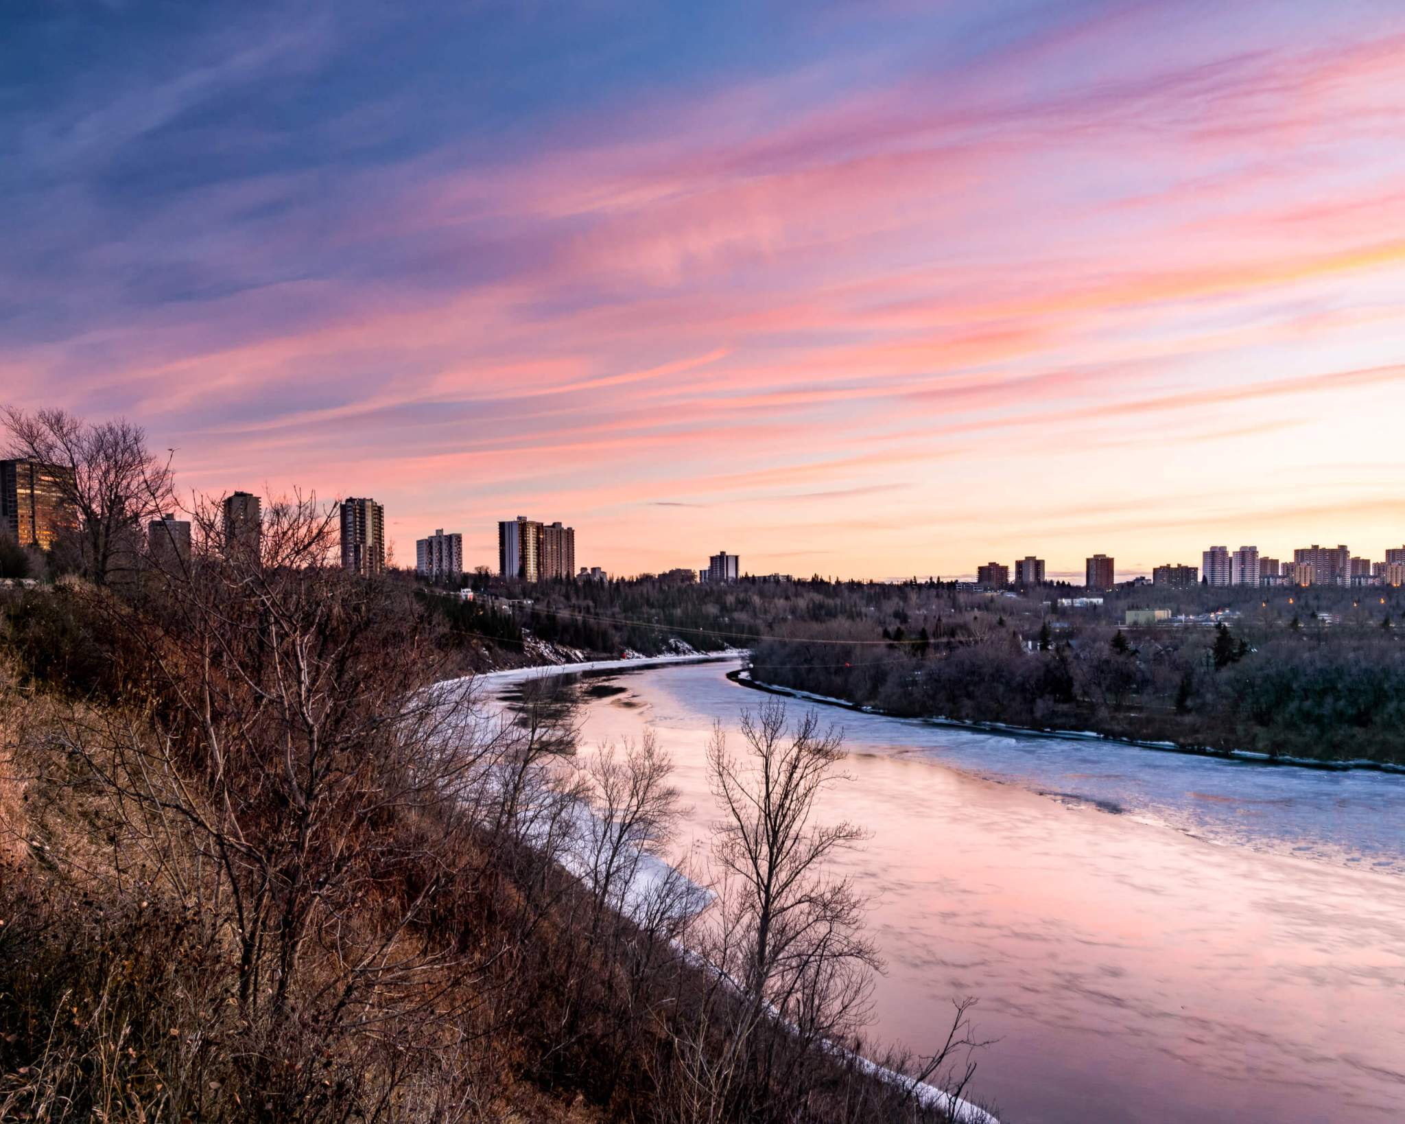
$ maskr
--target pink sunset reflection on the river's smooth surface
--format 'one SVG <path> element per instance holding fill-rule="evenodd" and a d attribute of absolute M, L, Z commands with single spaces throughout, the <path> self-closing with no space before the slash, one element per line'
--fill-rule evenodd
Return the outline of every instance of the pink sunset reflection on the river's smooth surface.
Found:
<path fill-rule="evenodd" d="M 620 679 L 584 733 L 658 728 L 691 805 L 679 849 L 704 854 L 718 708 L 687 690 L 705 669 L 660 674 Z M 1405 880 L 867 752 L 846 726 L 851 781 L 823 811 L 873 832 L 844 873 L 887 960 L 877 1037 L 930 1048 L 978 996 L 999 1041 L 975 1092 L 1023 1124 L 1405 1120 Z"/>

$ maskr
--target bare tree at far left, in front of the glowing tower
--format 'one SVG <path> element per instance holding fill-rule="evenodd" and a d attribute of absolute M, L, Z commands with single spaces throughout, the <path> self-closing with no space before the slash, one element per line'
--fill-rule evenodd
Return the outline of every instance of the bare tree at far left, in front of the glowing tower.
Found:
<path fill-rule="evenodd" d="M 58 409 L 7 406 L 10 454 L 59 469 L 55 476 L 72 518 L 84 576 L 108 584 L 129 569 L 145 520 L 171 504 L 169 461 L 146 447 L 146 433 L 124 419 L 90 423 Z"/>

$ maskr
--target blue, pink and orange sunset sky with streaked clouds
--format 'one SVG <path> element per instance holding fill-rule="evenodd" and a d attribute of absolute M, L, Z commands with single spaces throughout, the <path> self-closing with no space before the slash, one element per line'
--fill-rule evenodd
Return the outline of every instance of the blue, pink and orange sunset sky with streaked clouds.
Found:
<path fill-rule="evenodd" d="M 1405 542 L 1399 0 L 15 0 L 0 152 L 0 402 L 402 563 Z"/>

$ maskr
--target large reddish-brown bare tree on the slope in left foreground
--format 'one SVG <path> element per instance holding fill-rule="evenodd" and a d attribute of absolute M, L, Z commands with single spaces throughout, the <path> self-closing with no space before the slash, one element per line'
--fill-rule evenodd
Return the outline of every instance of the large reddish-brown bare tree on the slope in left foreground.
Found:
<path fill-rule="evenodd" d="M 471 686 L 433 688 L 440 649 L 407 586 L 325 565 L 315 502 L 270 506 L 261 561 L 216 549 L 208 504 L 194 518 L 191 565 L 153 572 L 140 611 L 90 599 L 133 653 L 132 704 L 73 705 L 46 738 L 104 794 L 152 896 L 198 932 L 201 1040 L 237 1041 L 288 1118 L 318 1116 L 327 1073 L 375 1116 L 489 1002 L 504 948 L 427 933 L 475 908 L 499 778 L 534 754 Z M 191 1076 L 167 1076 L 166 1103 L 187 1089 L 198 1109 Z"/>

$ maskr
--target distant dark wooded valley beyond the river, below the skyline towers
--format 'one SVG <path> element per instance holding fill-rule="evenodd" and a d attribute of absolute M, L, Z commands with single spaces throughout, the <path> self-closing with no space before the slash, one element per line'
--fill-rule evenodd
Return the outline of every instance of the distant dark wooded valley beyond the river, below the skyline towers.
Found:
<path fill-rule="evenodd" d="M 489 592 L 514 604 L 434 600 L 462 642 L 497 643 L 502 658 L 534 662 L 523 655 L 532 638 L 592 658 L 740 646 L 760 681 L 898 715 L 1405 762 L 1405 590 L 1135 586 L 1087 607 L 1058 604 L 1076 587 L 982 593 L 927 582 Z M 1138 608 L 1201 620 L 1123 625 Z"/>

